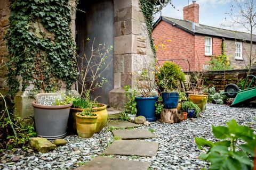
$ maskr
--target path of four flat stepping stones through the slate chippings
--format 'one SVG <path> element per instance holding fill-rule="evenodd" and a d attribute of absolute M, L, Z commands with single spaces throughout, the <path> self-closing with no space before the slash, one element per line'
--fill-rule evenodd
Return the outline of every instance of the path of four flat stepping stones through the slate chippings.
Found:
<path fill-rule="evenodd" d="M 139 125 L 125 121 L 112 121 L 108 122 L 108 126 L 115 126 L 117 128 L 134 128 L 138 127 Z M 155 138 L 155 135 L 151 132 L 140 129 L 113 130 L 112 132 L 114 136 L 121 139 Z M 157 155 L 157 150 L 158 142 L 148 142 L 144 140 L 115 140 L 108 146 L 103 154 L 152 157 Z M 87 162 L 85 165 L 76 168 L 76 170 L 147 170 L 150 165 L 151 163 L 149 162 L 123 160 L 119 158 L 103 156 L 94 158 L 90 162 Z"/>

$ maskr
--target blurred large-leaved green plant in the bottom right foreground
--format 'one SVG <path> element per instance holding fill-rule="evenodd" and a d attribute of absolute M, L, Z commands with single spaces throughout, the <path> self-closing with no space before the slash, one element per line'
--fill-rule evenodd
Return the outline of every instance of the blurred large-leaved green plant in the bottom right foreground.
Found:
<path fill-rule="evenodd" d="M 256 135 L 248 126 L 238 125 L 235 120 L 227 126 L 212 126 L 217 142 L 196 138 L 199 149 L 209 148 L 200 159 L 211 163 L 210 169 L 252 169 Z M 238 142 L 242 141 L 242 142 Z"/>

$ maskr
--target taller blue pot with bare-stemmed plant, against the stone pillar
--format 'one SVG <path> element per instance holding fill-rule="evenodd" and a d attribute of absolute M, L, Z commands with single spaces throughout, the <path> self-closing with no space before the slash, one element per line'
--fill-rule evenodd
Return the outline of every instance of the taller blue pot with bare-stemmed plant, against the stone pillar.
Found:
<path fill-rule="evenodd" d="M 145 116 L 147 121 L 156 121 L 155 104 L 158 96 L 151 95 L 155 88 L 154 71 L 142 69 L 141 73 L 136 75 L 135 84 L 138 93 L 141 94 L 141 96 L 135 97 L 137 116 Z"/>

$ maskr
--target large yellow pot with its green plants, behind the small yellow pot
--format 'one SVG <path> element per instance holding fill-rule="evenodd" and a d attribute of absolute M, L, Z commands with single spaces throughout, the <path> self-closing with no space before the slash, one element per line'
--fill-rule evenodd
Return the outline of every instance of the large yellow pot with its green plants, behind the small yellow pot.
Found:
<path fill-rule="evenodd" d="M 99 104 L 95 101 L 82 97 L 75 98 L 73 100 L 73 105 L 70 108 L 69 115 L 69 127 L 71 127 L 74 132 L 77 131 L 76 114 L 83 111 L 92 111 L 94 114 L 98 115 L 95 133 L 100 132 L 104 128 L 108 119 L 107 105 Z"/>

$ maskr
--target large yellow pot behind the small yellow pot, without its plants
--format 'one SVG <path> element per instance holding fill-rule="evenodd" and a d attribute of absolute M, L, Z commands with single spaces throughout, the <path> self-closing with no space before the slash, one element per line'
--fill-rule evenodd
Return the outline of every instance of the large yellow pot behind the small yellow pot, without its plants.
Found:
<path fill-rule="evenodd" d="M 76 132 L 76 113 L 83 112 L 84 110 L 88 110 L 88 108 L 70 108 L 69 127 L 71 127 L 74 132 Z M 99 107 L 93 108 L 92 111 L 99 115 L 97 119 L 97 128 L 95 130 L 95 133 L 98 133 L 104 128 L 108 119 L 107 105 L 99 104 Z"/>

